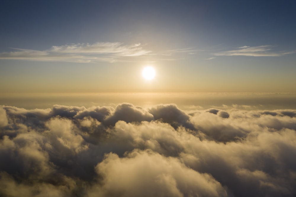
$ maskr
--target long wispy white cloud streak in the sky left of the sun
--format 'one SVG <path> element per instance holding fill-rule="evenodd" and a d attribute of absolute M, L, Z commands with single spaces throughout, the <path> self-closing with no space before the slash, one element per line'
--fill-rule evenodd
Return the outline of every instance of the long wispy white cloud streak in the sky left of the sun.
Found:
<path fill-rule="evenodd" d="M 119 42 L 78 43 L 52 46 L 44 51 L 17 49 L 0 53 L 0 59 L 21 59 L 45 62 L 115 62 L 123 57 L 143 56 L 151 51 L 143 49 L 140 43 L 123 45 Z"/>

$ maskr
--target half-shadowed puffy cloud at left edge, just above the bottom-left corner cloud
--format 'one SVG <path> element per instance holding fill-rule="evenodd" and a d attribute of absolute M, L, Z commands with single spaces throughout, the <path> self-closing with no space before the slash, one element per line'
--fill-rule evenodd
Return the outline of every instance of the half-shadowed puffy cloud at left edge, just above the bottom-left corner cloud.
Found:
<path fill-rule="evenodd" d="M 19 134 L 13 139 L 4 136 L 0 143 L 1 171 L 28 179 L 43 178 L 52 172 L 49 156 L 43 151 L 43 139 L 34 132 Z"/>

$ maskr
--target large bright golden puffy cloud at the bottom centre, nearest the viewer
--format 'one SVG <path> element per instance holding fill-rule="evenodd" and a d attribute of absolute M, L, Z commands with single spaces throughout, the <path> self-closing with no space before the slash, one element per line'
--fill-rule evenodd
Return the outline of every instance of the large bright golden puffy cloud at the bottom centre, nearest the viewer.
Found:
<path fill-rule="evenodd" d="M 96 172 L 103 180 L 89 196 L 227 196 L 211 175 L 149 150 L 134 150 L 124 158 L 109 153 Z"/>

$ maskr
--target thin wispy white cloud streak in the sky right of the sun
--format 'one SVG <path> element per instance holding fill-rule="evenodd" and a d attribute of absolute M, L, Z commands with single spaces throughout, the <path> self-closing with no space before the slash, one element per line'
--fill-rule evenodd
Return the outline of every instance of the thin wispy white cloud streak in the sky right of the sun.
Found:
<path fill-rule="evenodd" d="M 272 51 L 271 45 L 262 46 L 241 46 L 236 50 L 223 51 L 215 53 L 217 56 L 284 56 L 288 54 L 294 54 L 296 51 Z"/>

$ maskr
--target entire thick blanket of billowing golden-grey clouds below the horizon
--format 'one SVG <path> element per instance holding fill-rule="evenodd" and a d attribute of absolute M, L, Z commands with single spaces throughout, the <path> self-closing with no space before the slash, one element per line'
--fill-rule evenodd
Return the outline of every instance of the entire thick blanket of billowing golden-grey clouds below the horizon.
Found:
<path fill-rule="evenodd" d="M 295 196 L 296 110 L 0 107 L 0 196 Z"/>

